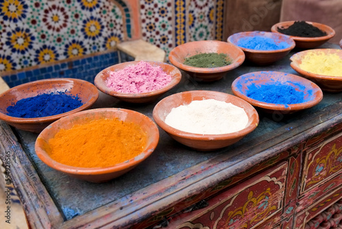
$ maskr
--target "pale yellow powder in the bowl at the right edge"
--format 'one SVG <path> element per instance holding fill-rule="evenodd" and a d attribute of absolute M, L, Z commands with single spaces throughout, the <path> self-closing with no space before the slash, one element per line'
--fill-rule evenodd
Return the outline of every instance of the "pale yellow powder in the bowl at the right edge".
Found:
<path fill-rule="evenodd" d="M 335 53 L 310 53 L 304 56 L 300 68 L 319 75 L 342 76 L 342 59 Z"/>

